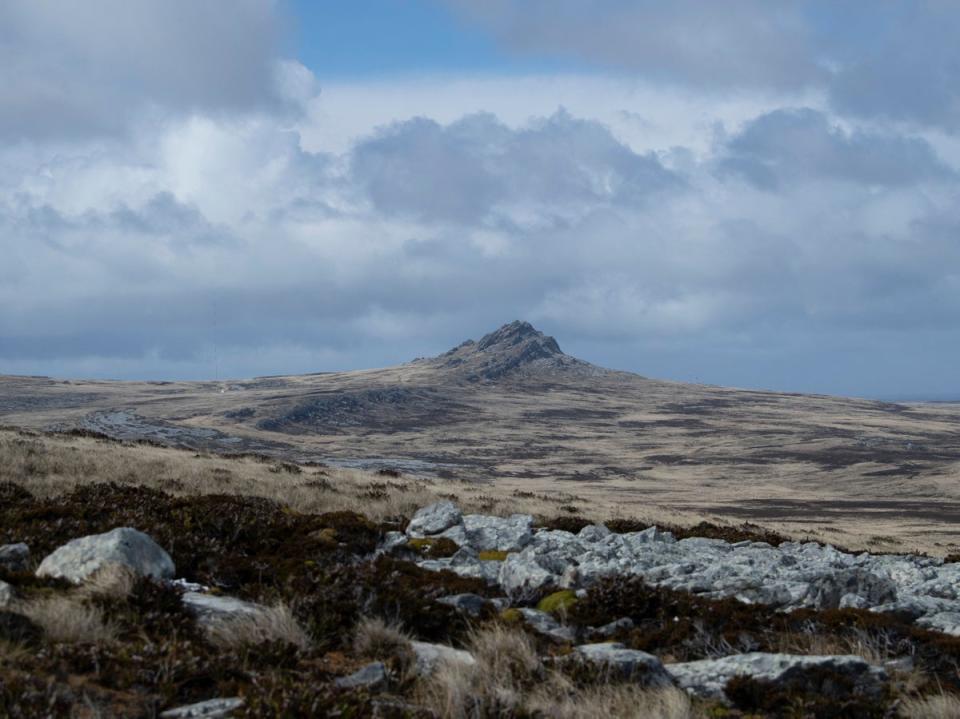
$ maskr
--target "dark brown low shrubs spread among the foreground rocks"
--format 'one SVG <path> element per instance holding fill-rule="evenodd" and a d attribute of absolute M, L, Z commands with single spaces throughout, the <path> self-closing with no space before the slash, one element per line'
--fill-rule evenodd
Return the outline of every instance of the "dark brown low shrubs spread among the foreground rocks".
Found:
<path fill-rule="evenodd" d="M 565 516 L 549 526 L 577 531 L 585 524 Z M 238 695 L 246 700 L 239 715 L 249 717 L 422 716 L 409 697 L 403 698 L 409 682 L 401 676 L 394 676 L 397 698 L 392 703 L 382 695 L 335 687 L 337 677 L 364 664 L 352 650 L 357 622 L 381 617 L 401 624 L 415 638 L 458 646 L 472 624 L 507 621 L 493 605 L 479 618 L 468 619 L 437 603 L 451 594 L 492 596 L 494 590 L 480 580 L 425 571 L 401 556 L 371 559 L 383 533 L 403 526 L 399 520 L 374 524 L 353 512 L 301 514 L 253 497 L 184 498 L 118 484 L 36 498 L 17 484 L 0 484 L 0 544 L 26 542 L 35 560 L 70 539 L 117 526 L 150 534 L 170 552 L 180 577 L 268 605 L 285 603 L 309 634 L 310 648 L 280 642 L 215 646 L 183 608 L 179 589 L 141 579 L 124 596 L 88 600 L 118 628 L 115 642 L 52 642 L 29 619 L 0 612 L 0 654 L 9 651 L 15 657 L 0 659 L 0 716 L 82 716 L 86 708 L 97 707 L 108 716 L 153 717 L 171 706 Z M 614 531 L 643 528 L 611 523 Z M 749 525 L 673 531 L 730 541 L 783 540 Z M 441 541 L 421 551 L 450 549 Z M 0 571 L 0 579 L 26 600 L 69 591 L 62 581 L 36 579 L 28 572 Z M 732 599 L 708 601 L 658 589 L 636 578 L 601 582 L 585 597 L 564 602 L 558 613 L 579 627 L 582 641 L 589 638 L 588 627 L 629 617 L 634 628 L 620 630 L 613 639 L 666 660 L 782 651 L 786 641 L 812 635 L 838 644 L 866 638 L 891 654 L 913 657 L 931 690 L 960 689 L 960 639 L 918 629 L 905 617 L 857 610 L 780 614 Z M 510 626 L 532 632 L 522 622 Z M 546 655 L 559 659 L 569 651 L 533 636 Z M 600 680 L 582 667 L 571 665 L 570 672 L 577 685 Z M 733 682 L 730 692 L 738 708 L 724 710 L 724 716 L 887 715 L 889 697 L 855 695 L 842 676 L 815 679 L 815 692 L 803 688 L 809 687 L 810 677 L 776 691 L 758 682 Z M 798 706 L 805 713 L 791 714 Z"/>

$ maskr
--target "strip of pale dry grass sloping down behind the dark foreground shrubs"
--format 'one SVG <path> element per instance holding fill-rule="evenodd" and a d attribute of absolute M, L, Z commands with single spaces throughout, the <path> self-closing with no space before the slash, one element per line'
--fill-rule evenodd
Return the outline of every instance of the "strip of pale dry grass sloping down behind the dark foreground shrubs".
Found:
<path fill-rule="evenodd" d="M 582 502 L 569 493 L 509 490 L 488 483 L 403 475 L 384 477 L 334 467 L 297 466 L 255 457 L 225 457 L 91 437 L 0 430 L 0 482 L 36 496 L 56 496 L 95 482 L 135 484 L 174 495 L 265 497 L 305 513 L 359 511 L 373 520 L 410 516 L 441 499 L 464 511 L 556 517 Z M 589 506 L 584 510 L 589 511 Z M 600 512 L 598 519 L 616 516 Z M 676 521 L 679 515 L 660 517 Z"/>

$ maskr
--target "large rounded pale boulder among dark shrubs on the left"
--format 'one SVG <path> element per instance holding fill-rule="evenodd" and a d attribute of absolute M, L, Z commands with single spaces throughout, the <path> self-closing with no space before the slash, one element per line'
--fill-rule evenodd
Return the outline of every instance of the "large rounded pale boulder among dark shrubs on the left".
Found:
<path fill-rule="evenodd" d="M 108 564 L 120 564 L 154 579 L 172 579 L 175 571 L 170 555 L 149 536 L 130 527 L 119 527 L 67 542 L 40 563 L 37 576 L 82 584 Z"/>

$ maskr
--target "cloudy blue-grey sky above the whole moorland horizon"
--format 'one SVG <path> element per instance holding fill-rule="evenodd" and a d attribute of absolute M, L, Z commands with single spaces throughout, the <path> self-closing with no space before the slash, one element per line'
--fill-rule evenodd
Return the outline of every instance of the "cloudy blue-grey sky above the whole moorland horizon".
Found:
<path fill-rule="evenodd" d="M 7 0 L 0 373 L 960 397 L 953 0 Z"/>

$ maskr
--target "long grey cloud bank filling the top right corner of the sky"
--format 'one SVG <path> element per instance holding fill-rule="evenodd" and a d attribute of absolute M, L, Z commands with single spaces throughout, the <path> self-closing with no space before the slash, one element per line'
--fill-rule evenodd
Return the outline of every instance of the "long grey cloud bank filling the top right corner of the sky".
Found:
<path fill-rule="evenodd" d="M 822 91 L 834 110 L 960 131 L 954 0 L 445 0 L 507 47 L 699 92 Z"/>

